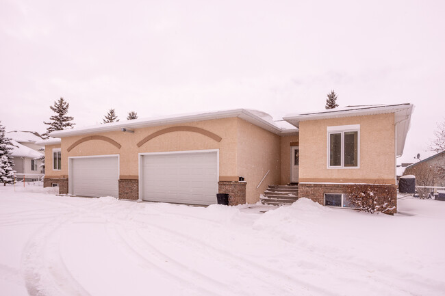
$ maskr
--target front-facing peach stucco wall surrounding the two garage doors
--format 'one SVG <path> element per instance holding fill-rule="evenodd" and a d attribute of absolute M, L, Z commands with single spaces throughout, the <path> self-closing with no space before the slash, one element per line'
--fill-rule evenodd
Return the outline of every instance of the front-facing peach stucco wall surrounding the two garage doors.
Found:
<path fill-rule="evenodd" d="M 142 146 L 137 146 L 138 142 L 144 139 L 144 137 L 162 129 L 174 126 L 199 127 L 206 131 L 210 131 L 223 139 L 220 142 L 216 142 L 214 139 L 199 133 L 175 131 L 154 137 Z M 238 176 L 236 134 L 236 118 L 225 118 L 202 122 L 150 126 L 142 129 L 135 129 L 134 133 L 123 133 L 121 131 L 94 133 L 94 135 L 109 137 L 120 144 L 120 148 L 99 139 L 92 139 L 75 146 L 68 152 L 68 147 L 74 144 L 77 140 L 88 137 L 89 135 L 64 137 L 62 138 L 62 170 L 60 174 L 68 175 L 68 157 L 119 154 L 120 176 L 134 177 L 138 176 L 139 153 L 219 149 L 220 176 Z"/>

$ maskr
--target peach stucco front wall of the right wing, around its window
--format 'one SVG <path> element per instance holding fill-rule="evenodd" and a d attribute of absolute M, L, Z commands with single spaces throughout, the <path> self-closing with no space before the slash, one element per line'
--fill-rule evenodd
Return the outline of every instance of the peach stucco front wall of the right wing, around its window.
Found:
<path fill-rule="evenodd" d="M 327 168 L 327 126 L 360 124 L 359 168 Z M 300 182 L 396 184 L 394 113 L 300 122 Z"/>

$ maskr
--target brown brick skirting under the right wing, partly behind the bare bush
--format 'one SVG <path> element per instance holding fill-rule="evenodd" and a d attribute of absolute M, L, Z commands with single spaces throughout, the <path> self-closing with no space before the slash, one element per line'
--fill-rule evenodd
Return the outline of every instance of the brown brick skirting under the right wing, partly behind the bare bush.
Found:
<path fill-rule="evenodd" d="M 388 214 L 397 212 L 397 187 L 396 185 L 375 185 L 367 184 L 372 187 L 372 191 L 379 198 L 379 204 L 387 202 L 394 210 L 388 211 Z M 325 205 L 325 193 L 352 193 L 355 189 L 354 184 L 322 184 L 322 183 L 299 183 L 298 198 L 310 198 L 314 202 Z M 383 198 L 384 197 L 384 198 Z"/>

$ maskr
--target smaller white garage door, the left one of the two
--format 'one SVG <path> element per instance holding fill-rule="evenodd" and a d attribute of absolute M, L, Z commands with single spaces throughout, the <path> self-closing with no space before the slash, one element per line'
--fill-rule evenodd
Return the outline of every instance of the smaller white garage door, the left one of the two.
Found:
<path fill-rule="evenodd" d="M 118 157 L 70 159 L 70 193 L 76 196 L 118 197 Z"/>

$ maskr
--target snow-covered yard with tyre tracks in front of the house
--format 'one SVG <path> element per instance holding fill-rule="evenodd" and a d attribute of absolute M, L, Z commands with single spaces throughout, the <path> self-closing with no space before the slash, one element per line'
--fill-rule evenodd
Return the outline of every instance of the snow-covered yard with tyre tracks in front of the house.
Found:
<path fill-rule="evenodd" d="M 444 295 L 445 202 L 394 217 L 0 186 L 0 295 Z"/>

